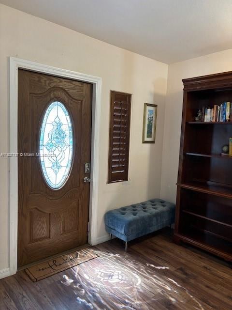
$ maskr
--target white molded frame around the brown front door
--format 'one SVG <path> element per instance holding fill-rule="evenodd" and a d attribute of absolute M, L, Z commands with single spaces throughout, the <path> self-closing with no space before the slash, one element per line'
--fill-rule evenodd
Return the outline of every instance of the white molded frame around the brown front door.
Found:
<path fill-rule="evenodd" d="M 10 153 L 18 152 L 18 69 L 44 73 L 61 78 L 69 78 L 93 85 L 92 95 L 92 136 L 91 136 L 91 167 L 89 193 L 89 235 L 88 243 L 97 244 L 97 215 L 99 192 L 99 159 L 100 159 L 100 123 L 101 123 L 101 95 L 102 78 L 78 73 L 66 69 L 56 68 L 38 62 L 31 62 L 10 57 Z M 17 272 L 18 247 L 18 157 L 10 157 L 10 198 L 9 198 L 9 255 L 10 275 Z"/>

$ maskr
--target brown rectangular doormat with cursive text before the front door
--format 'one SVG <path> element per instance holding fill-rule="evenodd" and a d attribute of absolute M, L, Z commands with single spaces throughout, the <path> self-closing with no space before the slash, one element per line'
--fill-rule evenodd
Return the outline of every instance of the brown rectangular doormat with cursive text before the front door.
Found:
<path fill-rule="evenodd" d="M 31 266 L 25 269 L 25 271 L 29 278 L 33 282 L 36 282 L 79 265 L 80 263 L 88 262 L 96 257 L 99 257 L 99 255 L 95 254 L 90 248 L 82 248 L 75 252 L 64 254 L 52 260 Z"/>

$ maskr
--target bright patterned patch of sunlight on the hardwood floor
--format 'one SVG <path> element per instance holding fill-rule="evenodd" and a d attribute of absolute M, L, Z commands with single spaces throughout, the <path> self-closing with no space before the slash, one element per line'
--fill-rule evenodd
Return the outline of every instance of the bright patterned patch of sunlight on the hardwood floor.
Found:
<path fill-rule="evenodd" d="M 163 274 L 169 267 L 139 263 L 129 254 L 95 252 L 100 257 L 76 266 L 73 279 L 63 276 L 61 281 L 72 287 L 77 302 L 85 309 L 150 310 L 162 298 L 175 305 L 186 303 L 187 307 L 191 299 L 194 309 L 204 310 L 187 289 Z"/>

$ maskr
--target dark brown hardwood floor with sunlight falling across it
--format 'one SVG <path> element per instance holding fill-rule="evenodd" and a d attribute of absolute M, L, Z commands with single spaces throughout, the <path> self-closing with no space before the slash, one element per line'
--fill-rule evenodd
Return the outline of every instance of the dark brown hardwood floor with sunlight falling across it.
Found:
<path fill-rule="evenodd" d="M 164 229 L 130 243 L 94 247 L 87 263 L 36 283 L 24 271 L 0 280 L 0 310 L 231 310 L 232 269 L 178 246 Z"/>

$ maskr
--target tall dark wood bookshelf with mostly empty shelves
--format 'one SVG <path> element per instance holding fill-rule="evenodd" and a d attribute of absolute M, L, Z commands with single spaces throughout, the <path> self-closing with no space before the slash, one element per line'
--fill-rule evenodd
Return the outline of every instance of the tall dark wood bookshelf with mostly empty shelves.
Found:
<path fill-rule="evenodd" d="M 174 241 L 232 261 L 232 122 L 196 122 L 203 107 L 232 102 L 232 72 L 184 79 Z M 218 126 L 219 125 L 219 126 Z"/>

